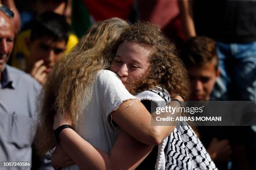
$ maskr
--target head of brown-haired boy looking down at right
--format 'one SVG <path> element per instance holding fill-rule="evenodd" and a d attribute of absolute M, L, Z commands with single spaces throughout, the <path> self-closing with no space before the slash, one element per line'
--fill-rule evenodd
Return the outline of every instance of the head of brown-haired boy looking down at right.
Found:
<path fill-rule="evenodd" d="M 215 42 L 204 36 L 191 38 L 183 45 L 181 57 L 191 80 L 190 100 L 210 100 L 220 75 Z"/>

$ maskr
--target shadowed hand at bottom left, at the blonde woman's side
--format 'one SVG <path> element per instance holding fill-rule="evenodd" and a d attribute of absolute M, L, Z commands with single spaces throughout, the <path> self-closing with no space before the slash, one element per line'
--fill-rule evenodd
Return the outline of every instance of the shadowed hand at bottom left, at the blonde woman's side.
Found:
<path fill-rule="evenodd" d="M 51 155 L 51 164 L 54 169 L 59 169 L 61 167 L 68 167 L 74 165 L 74 161 L 65 153 L 63 148 L 59 143 L 57 143 L 54 152 Z"/>

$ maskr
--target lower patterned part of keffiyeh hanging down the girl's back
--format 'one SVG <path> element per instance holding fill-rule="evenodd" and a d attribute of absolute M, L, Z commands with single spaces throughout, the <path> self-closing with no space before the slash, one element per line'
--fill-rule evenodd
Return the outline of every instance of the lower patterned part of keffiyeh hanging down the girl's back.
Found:
<path fill-rule="evenodd" d="M 165 169 L 217 170 L 194 130 L 187 122 L 182 124 L 165 139 Z M 163 168 L 159 166 L 158 169 Z"/>

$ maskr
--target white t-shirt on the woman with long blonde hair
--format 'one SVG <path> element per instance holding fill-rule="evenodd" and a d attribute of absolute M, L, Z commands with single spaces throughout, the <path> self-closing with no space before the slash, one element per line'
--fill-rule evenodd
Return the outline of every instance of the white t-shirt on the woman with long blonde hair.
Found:
<path fill-rule="evenodd" d="M 120 129 L 114 129 L 110 125 L 108 115 L 117 110 L 123 101 L 136 97 L 131 95 L 120 78 L 109 70 L 100 70 L 97 73 L 92 90 L 91 102 L 83 111 L 77 133 L 91 145 L 109 153 Z M 73 165 L 64 169 L 77 170 L 79 167 Z"/>

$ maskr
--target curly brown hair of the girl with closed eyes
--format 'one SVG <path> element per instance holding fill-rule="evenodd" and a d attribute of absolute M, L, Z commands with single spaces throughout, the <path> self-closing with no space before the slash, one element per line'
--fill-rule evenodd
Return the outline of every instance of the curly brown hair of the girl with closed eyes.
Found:
<path fill-rule="evenodd" d="M 133 84 L 132 93 L 161 86 L 170 95 L 180 94 L 189 97 L 187 70 L 177 56 L 175 45 L 161 33 L 157 25 L 148 22 L 133 24 L 120 35 L 118 46 L 123 42 L 151 47 L 148 72 L 143 76 L 143 80 Z"/>

